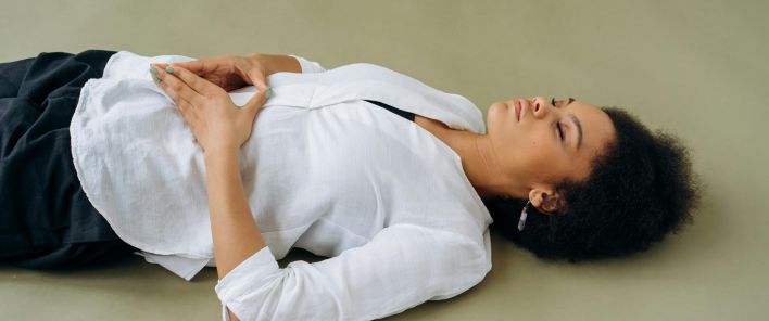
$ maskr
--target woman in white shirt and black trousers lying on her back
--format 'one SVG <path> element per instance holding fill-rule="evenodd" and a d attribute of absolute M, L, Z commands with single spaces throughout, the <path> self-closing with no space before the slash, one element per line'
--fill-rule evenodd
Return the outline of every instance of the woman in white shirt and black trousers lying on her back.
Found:
<path fill-rule="evenodd" d="M 225 319 L 382 318 L 479 283 L 490 215 L 578 261 L 646 249 L 697 200 L 676 140 L 573 99 L 495 103 L 484 128 L 367 64 L 86 51 L 0 72 L 0 258 L 215 265 Z M 292 247 L 329 258 L 279 269 Z"/>

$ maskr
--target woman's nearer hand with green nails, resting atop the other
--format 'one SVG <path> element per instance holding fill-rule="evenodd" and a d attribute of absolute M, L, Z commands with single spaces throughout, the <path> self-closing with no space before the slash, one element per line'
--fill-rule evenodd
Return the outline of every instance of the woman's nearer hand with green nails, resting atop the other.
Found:
<path fill-rule="evenodd" d="M 259 111 L 272 95 L 270 89 L 260 91 L 240 107 L 224 89 L 190 70 L 150 66 L 155 84 L 179 107 L 203 152 L 240 149 L 251 137 Z"/>

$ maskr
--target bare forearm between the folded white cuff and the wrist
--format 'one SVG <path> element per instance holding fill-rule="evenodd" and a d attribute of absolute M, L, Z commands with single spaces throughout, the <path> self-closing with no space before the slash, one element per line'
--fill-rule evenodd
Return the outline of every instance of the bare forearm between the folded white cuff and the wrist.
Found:
<path fill-rule="evenodd" d="M 219 279 L 266 246 L 251 215 L 238 165 L 238 149 L 205 153 L 214 256 Z"/>

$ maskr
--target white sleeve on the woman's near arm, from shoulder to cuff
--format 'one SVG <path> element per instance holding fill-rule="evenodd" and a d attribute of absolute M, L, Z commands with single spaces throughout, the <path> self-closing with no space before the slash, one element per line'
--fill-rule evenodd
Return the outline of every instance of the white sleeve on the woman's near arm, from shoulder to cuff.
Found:
<path fill-rule="evenodd" d="M 381 230 L 367 244 L 315 264 L 279 269 L 267 247 L 216 285 L 223 319 L 371 320 L 478 284 L 491 266 L 478 242 L 412 224 Z"/>

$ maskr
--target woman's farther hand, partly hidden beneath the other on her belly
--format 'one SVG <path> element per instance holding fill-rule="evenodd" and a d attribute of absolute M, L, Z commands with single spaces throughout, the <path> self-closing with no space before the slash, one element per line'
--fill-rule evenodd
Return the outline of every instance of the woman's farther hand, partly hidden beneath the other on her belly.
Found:
<path fill-rule="evenodd" d="M 167 64 L 155 64 L 165 68 Z M 256 54 L 248 56 L 219 55 L 186 63 L 173 63 L 172 67 L 181 67 L 201 78 L 232 91 L 253 85 L 260 92 L 267 90 L 267 72 Z"/>

